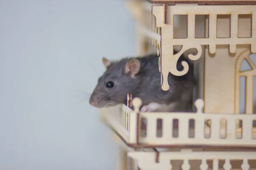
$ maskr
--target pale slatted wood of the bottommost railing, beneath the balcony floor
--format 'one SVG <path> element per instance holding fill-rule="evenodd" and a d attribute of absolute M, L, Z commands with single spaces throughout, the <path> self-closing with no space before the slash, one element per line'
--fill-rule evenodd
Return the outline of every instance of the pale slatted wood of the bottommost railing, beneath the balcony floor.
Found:
<path fill-rule="evenodd" d="M 207 160 L 213 160 L 212 170 L 220 170 L 221 166 L 218 164 L 219 159 L 224 160 L 224 170 L 235 170 L 232 168 L 230 160 L 243 160 L 241 167 L 238 169 L 248 170 L 250 165 L 248 160 L 256 161 L 256 152 L 204 152 L 204 151 L 192 151 L 181 150 L 173 152 L 161 152 L 159 154 L 159 163 L 154 162 L 156 154 L 154 152 L 128 152 L 128 156 L 138 161 L 141 170 L 180 170 L 172 167 L 171 160 L 182 160 L 181 167 L 183 170 L 189 170 L 191 164 L 188 164 L 189 160 L 201 160 L 200 169 L 208 170 Z M 232 169 L 231 169 L 232 168 Z M 198 170 L 199 167 L 192 170 Z M 250 170 L 256 170 L 256 168 L 250 168 Z"/>

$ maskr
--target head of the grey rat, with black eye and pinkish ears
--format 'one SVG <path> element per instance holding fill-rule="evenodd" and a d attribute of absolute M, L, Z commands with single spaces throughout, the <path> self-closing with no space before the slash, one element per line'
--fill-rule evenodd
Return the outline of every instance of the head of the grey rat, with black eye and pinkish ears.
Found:
<path fill-rule="evenodd" d="M 102 62 L 107 70 L 98 79 L 90 96 L 90 105 L 104 108 L 124 103 L 127 94 L 132 93 L 138 84 L 136 74 L 140 71 L 140 61 L 126 58 L 112 62 L 103 57 Z"/>

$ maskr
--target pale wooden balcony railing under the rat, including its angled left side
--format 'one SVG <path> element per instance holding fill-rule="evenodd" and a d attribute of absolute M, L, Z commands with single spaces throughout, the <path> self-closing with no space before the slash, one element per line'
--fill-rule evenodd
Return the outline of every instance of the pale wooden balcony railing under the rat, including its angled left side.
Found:
<path fill-rule="evenodd" d="M 131 96 L 131 107 L 129 101 Z M 140 112 L 141 100 L 134 98 L 132 103 L 134 111 L 122 105 L 119 113 L 105 115 L 108 125 L 130 147 L 256 148 L 256 114 L 203 113 L 201 99 L 195 101 L 196 113 Z M 146 131 L 141 130 L 142 119 Z"/>

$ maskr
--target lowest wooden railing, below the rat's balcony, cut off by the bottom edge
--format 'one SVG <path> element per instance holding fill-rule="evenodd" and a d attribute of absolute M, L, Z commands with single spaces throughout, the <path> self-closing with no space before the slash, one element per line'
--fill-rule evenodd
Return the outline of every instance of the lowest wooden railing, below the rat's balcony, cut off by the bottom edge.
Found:
<path fill-rule="evenodd" d="M 143 170 L 256 170 L 256 152 L 192 151 L 128 152 Z"/>

